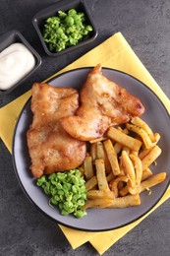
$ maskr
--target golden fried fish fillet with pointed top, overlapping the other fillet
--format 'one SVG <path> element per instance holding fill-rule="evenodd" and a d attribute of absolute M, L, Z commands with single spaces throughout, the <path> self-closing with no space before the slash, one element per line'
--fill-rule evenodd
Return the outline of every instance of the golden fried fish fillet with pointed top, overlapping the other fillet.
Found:
<path fill-rule="evenodd" d="M 107 79 L 100 64 L 88 74 L 80 100 L 76 115 L 63 117 L 60 122 L 71 136 L 83 141 L 98 138 L 110 126 L 126 123 L 144 112 L 141 100 Z"/>

